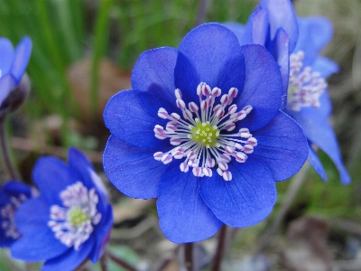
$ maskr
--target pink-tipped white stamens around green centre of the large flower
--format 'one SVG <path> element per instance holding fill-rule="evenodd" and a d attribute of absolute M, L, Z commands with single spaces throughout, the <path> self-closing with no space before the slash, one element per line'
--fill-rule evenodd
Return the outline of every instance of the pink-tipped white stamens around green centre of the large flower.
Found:
<path fill-rule="evenodd" d="M 155 160 L 169 164 L 173 158 L 185 158 L 180 164 L 180 171 L 187 173 L 191 167 L 197 177 L 211 177 L 211 168 L 217 166 L 217 173 L 225 181 L 232 180 L 232 173 L 228 170 L 231 157 L 238 163 L 245 163 L 247 154 L 254 152 L 257 140 L 247 128 L 239 129 L 236 134 L 229 133 L 236 129 L 237 121 L 252 111 L 252 107 L 246 106 L 237 111 L 232 102 L 238 89 L 231 88 L 222 96 L 221 92 L 221 89 L 210 89 L 201 82 L 197 88 L 199 106 L 191 101 L 186 107 L 180 89 L 175 89 L 176 104 L 183 119 L 177 113 L 169 114 L 161 107 L 158 116 L 170 121 L 165 129 L 154 126 L 154 135 L 158 139 L 170 138 L 171 145 L 176 147 L 167 153 L 155 153 Z M 216 98 L 219 104 L 215 106 Z"/>

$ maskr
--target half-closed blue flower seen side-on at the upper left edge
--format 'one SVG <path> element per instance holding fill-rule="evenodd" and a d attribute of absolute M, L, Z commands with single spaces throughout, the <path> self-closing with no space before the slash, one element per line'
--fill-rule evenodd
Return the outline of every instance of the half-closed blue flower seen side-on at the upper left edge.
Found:
<path fill-rule="evenodd" d="M 23 104 L 30 84 L 24 75 L 32 52 L 32 40 L 24 37 L 14 50 L 13 44 L 0 37 L 0 112 L 14 111 Z"/>

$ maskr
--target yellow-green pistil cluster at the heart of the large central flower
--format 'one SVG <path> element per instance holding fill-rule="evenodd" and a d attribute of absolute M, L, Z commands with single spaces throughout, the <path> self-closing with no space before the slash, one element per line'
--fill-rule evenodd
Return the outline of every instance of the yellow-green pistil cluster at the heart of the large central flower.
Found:
<path fill-rule="evenodd" d="M 208 148 L 217 145 L 219 130 L 217 126 L 211 126 L 208 121 L 201 123 L 199 119 L 196 119 L 196 126 L 191 127 L 190 132 L 190 139 L 200 145 Z"/>

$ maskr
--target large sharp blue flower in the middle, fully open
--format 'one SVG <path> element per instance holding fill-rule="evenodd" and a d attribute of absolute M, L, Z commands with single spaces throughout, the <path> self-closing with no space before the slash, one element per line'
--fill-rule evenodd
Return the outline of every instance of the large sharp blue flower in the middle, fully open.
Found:
<path fill-rule="evenodd" d="M 132 87 L 106 105 L 105 172 L 130 197 L 158 198 L 160 227 L 173 242 L 264 220 L 274 181 L 307 158 L 301 128 L 279 110 L 272 55 L 241 47 L 223 25 L 200 25 L 178 50 L 143 52 Z"/>

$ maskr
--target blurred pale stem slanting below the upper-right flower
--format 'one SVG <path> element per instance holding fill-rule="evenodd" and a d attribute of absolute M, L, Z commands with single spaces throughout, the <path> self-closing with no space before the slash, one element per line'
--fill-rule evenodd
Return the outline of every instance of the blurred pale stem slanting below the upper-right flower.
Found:
<path fill-rule="evenodd" d="M 288 210 L 290 210 L 290 207 L 292 205 L 294 198 L 297 195 L 297 192 L 299 192 L 299 190 L 301 188 L 301 184 L 306 179 L 305 177 L 306 177 L 306 173 L 307 173 L 307 170 L 309 167 L 310 167 L 309 163 L 304 164 L 302 166 L 301 170 L 299 171 L 299 173 L 297 173 L 292 178 L 292 182 L 289 185 L 287 192 L 286 192 L 286 197 L 282 201 L 282 206 L 281 206 L 280 210 L 278 211 L 275 219 L 273 220 L 271 226 L 267 229 L 267 231 L 264 233 L 264 236 L 261 238 L 261 241 L 259 242 L 259 245 L 258 245 L 258 248 L 256 249 L 255 254 L 261 252 L 262 250 L 264 250 L 264 248 L 266 248 L 268 246 L 268 244 L 271 241 L 271 239 L 273 238 L 274 234 L 277 232 L 277 229 L 280 228 L 285 215 L 287 214 Z"/>

